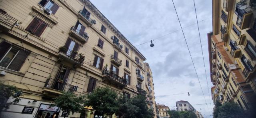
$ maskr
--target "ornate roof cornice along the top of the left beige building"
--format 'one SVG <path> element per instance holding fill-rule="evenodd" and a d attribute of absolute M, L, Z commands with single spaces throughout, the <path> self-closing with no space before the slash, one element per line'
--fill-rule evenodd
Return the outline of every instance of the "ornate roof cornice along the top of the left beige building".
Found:
<path fill-rule="evenodd" d="M 112 30 L 116 36 L 120 40 L 122 40 L 130 49 L 132 49 L 142 60 L 146 60 L 146 58 L 140 53 L 140 51 L 135 48 L 132 43 L 129 42 L 127 38 L 124 37 L 124 35 L 117 30 L 117 28 L 90 2 L 90 0 L 80 0 L 82 3 L 84 3 L 85 6 L 87 6 L 94 14 L 97 16 L 110 30 Z"/>

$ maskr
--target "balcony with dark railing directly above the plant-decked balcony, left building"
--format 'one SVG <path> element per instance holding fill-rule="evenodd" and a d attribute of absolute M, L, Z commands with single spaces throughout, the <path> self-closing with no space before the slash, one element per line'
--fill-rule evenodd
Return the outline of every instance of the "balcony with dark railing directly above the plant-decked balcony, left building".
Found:
<path fill-rule="evenodd" d="M 79 29 L 75 28 L 75 26 L 72 26 L 68 34 L 76 38 L 76 40 L 80 41 L 82 44 L 88 42 L 89 39 L 89 36 L 86 32 L 80 31 Z"/>

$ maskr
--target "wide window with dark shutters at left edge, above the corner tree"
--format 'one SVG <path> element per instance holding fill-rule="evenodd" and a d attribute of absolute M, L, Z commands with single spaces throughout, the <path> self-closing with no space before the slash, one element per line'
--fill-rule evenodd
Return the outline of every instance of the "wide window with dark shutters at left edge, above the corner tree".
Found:
<path fill-rule="evenodd" d="M 29 54 L 28 50 L 5 41 L 0 42 L 0 66 L 4 68 L 19 71 Z"/>

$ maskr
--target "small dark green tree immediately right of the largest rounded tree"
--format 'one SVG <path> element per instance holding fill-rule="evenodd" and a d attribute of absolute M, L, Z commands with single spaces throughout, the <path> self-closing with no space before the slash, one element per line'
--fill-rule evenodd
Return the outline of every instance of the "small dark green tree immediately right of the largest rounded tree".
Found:
<path fill-rule="evenodd" d="M 134 118 L 135 114 L 139 111 L 139 108 L 132 104 L 132 101 L 126 97 L 119 97 L 118 104 L 116 115 L 119 118 Z"/>

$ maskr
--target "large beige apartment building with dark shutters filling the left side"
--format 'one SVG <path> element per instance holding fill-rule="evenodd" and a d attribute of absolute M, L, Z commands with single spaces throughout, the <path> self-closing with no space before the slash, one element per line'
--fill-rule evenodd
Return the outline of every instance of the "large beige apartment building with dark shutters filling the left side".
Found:
<path fill-rule="evenodd" d="M 24 95 L 1 118 L 62 118 L 49 108 L 62 91 L 108 86 L 128 98 L 146 95 L 145 60 L 89 0 L 0 0 L 0 82 Z M 95 117 L 91 107 L 66 116 Z"/>

